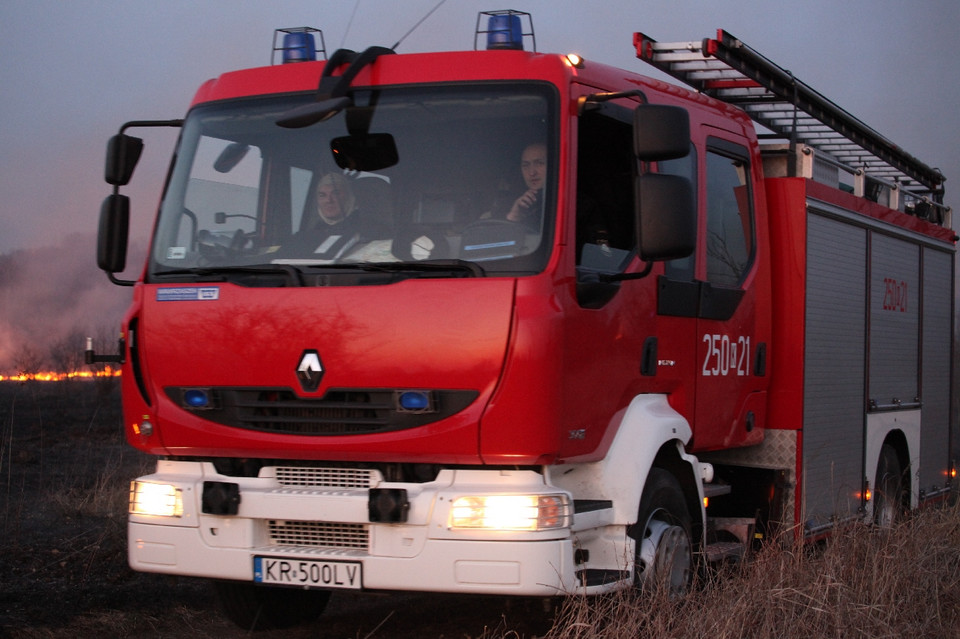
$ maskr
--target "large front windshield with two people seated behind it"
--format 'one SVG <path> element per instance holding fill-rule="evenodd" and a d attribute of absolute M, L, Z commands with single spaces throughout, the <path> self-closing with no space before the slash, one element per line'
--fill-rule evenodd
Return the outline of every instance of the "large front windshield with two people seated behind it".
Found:
<path fill-rule="evenodd" d="M 373 265 L 433 276 L 444 265 L 472 274 L 543 269 L 556 208 L 549 85 L 352 97 L 352 106 L 299 129 L 277 122 L 312 95 L 192 111 L 154 235 L 151 277 Z"/>

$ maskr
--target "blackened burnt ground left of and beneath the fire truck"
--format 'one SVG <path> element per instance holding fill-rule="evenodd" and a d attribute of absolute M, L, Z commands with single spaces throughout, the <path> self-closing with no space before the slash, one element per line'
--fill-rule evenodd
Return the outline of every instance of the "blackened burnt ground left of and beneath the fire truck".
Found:
<path fill-rule="evenodd" d="M 245 637 L 206 581 L 126 559 L 129 481 L 117 380 L 0 382 L 0 637 Z M 316 622 L 258 637 L 530 637 L 539 602 L 335 593 Z M 549 623 L 546 624 L 549 626 Z"/>

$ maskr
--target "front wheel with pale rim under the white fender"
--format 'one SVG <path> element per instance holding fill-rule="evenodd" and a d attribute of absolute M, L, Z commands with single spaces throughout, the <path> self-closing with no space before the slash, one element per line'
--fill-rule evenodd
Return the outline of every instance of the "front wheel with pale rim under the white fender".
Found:
<path fill-rule="evenodd" d="M 637 523 L 629 533 L 636 541 L 635 587 L 666 588 L 671 596 L 687 592 L 694 567 L 690 525 L 680 483 L 666 470 L 652 468 L 640 498 Z"/>

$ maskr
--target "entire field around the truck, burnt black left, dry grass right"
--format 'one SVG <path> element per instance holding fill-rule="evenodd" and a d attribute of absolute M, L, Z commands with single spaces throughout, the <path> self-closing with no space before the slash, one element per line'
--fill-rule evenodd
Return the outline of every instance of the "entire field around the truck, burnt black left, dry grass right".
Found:
<path fill-rule="evenodd" d="M 131 571 L 116 380 L 0 382 L 0 636 L 247 637 L 209 586 Z M 829 543 L 759 549 L 694 591 L 543 602 L 429 594 L 333 596 L 321 618 L 258 637 L 520 639 L 960 637 L 960 511 Z"/>

